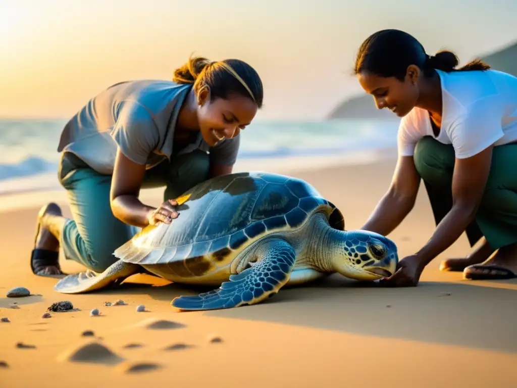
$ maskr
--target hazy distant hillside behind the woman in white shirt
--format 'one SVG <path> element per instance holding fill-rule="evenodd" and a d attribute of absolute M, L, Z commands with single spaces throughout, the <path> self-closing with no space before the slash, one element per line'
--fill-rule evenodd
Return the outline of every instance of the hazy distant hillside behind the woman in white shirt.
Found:
<path fill-rule="evenodd" d="M 517 42 L 503 50 L 481 56 L 493 69 L 510 73 L 517 77 Z M 377 109 L 373 97 L 364 93 L 345 100 L 330 112 L 328 118 L 373 118 L 400 120 L 387 109 Z"/>

